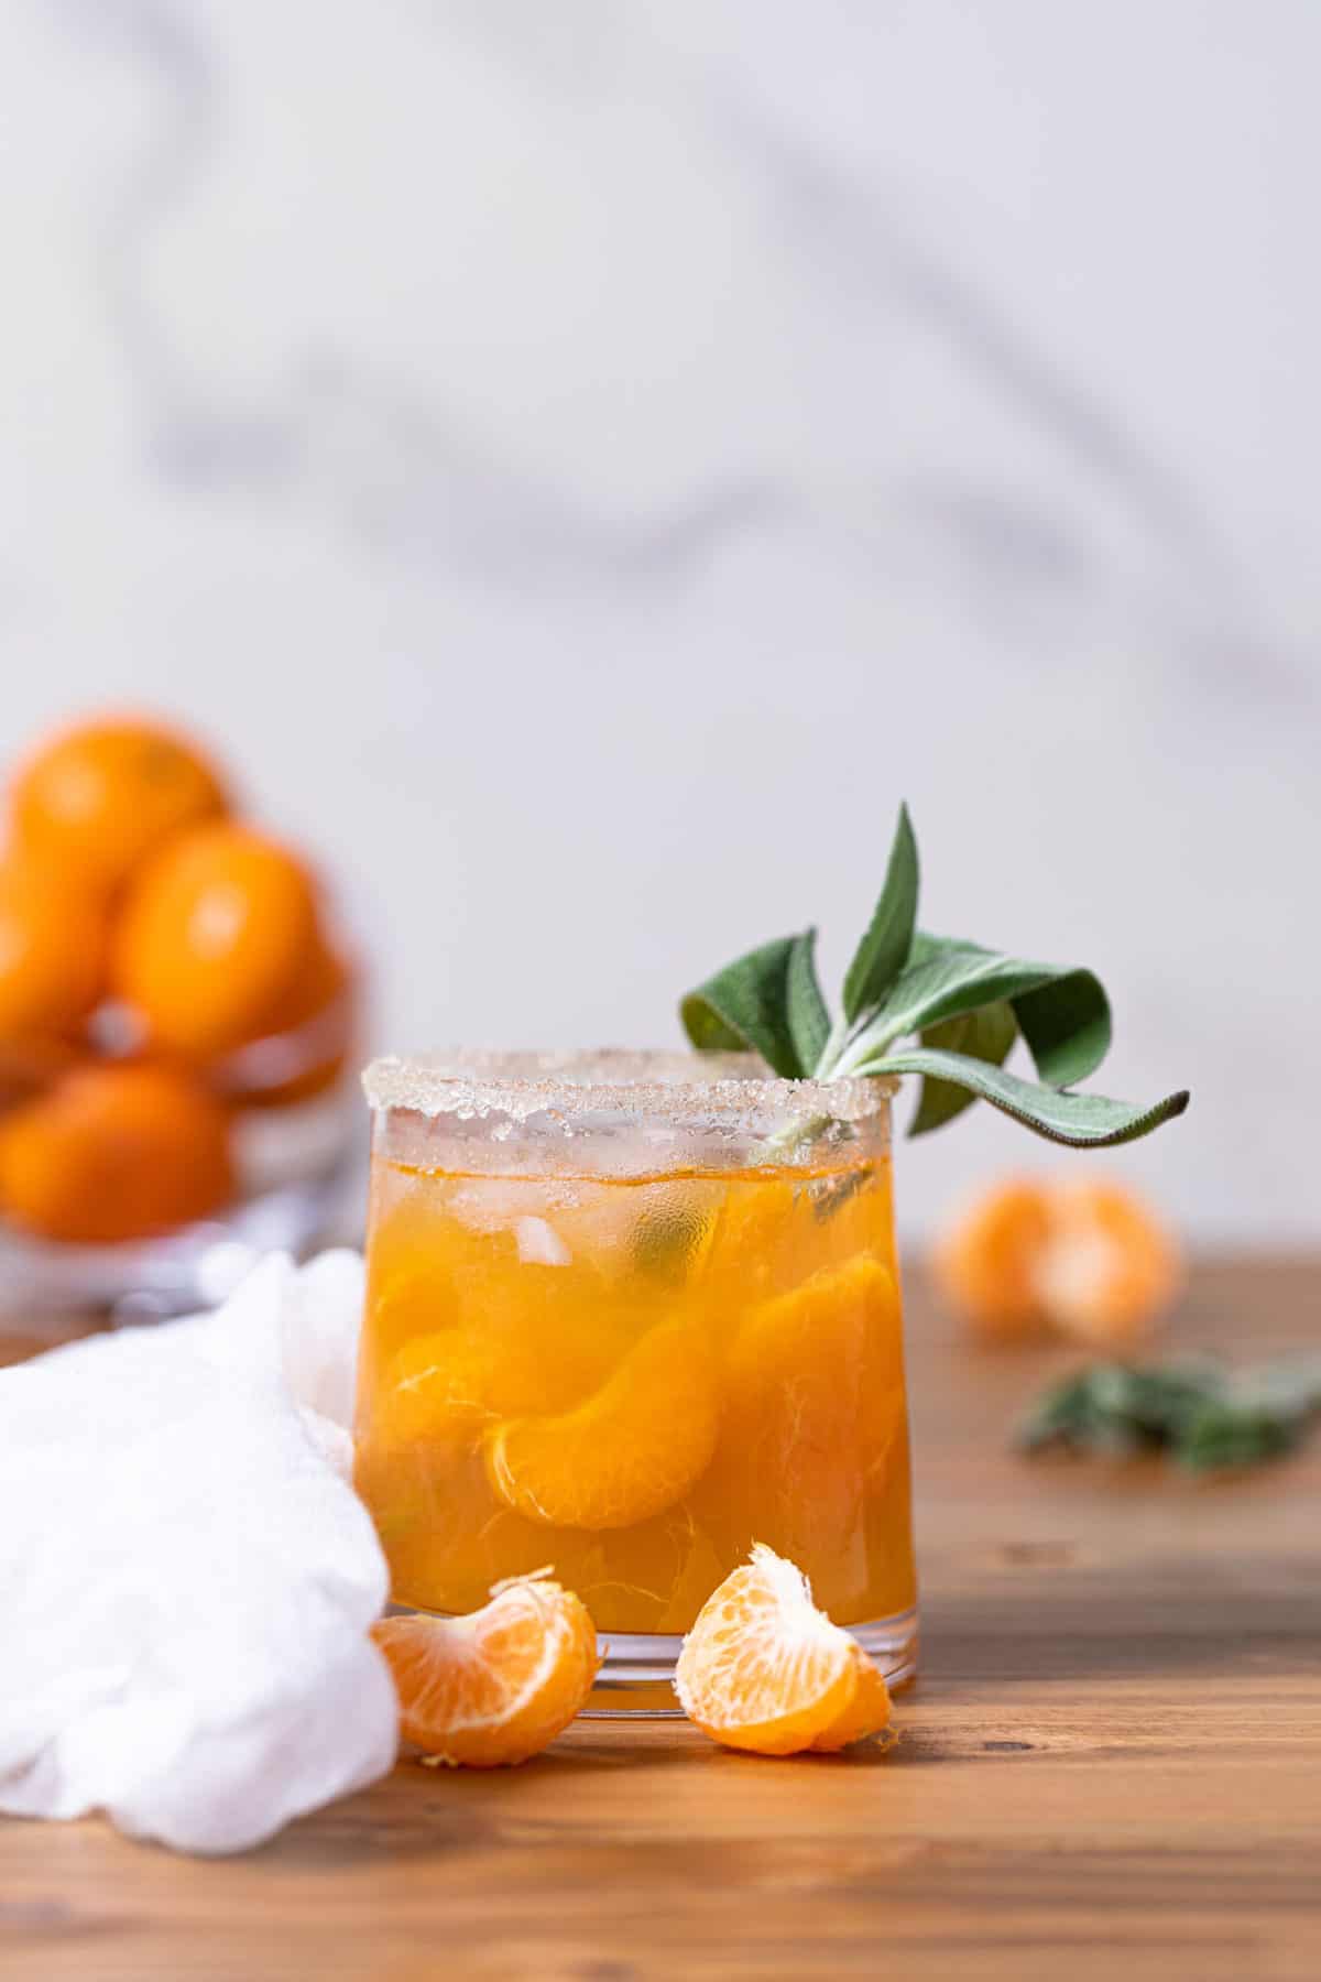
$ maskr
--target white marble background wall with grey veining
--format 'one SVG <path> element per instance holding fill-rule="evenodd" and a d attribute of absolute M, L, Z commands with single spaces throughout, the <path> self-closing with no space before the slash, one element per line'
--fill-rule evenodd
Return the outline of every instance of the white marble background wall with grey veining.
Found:
<path fill-rule="evenodd" d="M 392 1043 L 840 969 L 907 795 L 927 920 L 1192 1084 L 1101 1161 L 1315 1243 L 1319 65 L 1313 0 L 6 0 L 0 749 L 202 723 Z M 911 1229 L 1054 1161 L 978 1116 Z"/>

